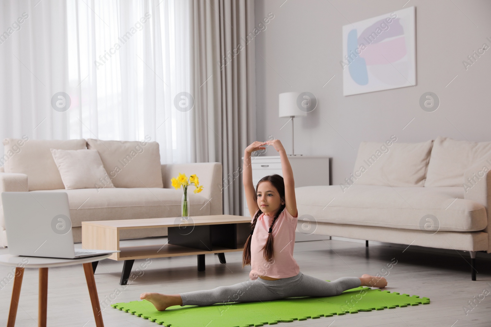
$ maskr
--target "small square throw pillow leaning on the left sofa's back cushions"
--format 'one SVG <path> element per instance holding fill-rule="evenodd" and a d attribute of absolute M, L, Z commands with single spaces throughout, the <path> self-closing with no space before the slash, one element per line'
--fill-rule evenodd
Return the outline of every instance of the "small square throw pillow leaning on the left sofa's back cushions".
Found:
<path fill-rule="evenodd" d="M 51 153 L 65 189 L 99 188 L 101 182 L 103 187 L 114 187 L 97 150 L 51 149 Z"/>

